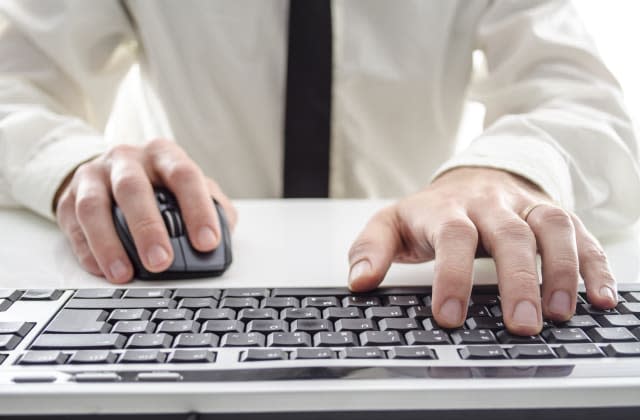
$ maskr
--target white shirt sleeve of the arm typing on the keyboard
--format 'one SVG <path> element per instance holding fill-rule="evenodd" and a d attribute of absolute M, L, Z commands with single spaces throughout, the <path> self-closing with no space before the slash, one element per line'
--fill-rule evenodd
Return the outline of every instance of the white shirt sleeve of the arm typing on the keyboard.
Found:
<path fill-rule="evenodd" d="M 638 144 L 620 88 L 568 1 L 495 1 L 477 46 L 487 75 L 472 87 L 485 131 L 436 173 L 510 171 L 573 210 L 596 235 L 640 215 Z"/>

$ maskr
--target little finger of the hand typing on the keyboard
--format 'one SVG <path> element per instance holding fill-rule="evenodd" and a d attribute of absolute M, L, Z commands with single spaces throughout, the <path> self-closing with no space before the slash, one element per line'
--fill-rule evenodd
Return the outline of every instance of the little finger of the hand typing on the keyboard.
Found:
<path fill-rule="evenodd" d="M 587 299 L 597 307 L 613 308 L 618 303 L 618 292 L 607 255 L 582 221 L 575 215 L 571 217 L 576 230 L 580 274 L 587 289 Z"/>

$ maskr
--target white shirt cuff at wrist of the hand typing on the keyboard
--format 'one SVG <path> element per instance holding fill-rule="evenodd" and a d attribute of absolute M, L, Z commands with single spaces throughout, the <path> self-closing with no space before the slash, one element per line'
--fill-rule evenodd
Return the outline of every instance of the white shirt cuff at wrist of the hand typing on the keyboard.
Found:
<path fill-rule="evenodd" d="M 549 143 L 530 136 L 480 136 L 462 153 L 442 165 L 432 180 L 454 168 L 472 166 L 501 169 L 533 182 L 566 210 L 574 197 L 569 166 Z"/>

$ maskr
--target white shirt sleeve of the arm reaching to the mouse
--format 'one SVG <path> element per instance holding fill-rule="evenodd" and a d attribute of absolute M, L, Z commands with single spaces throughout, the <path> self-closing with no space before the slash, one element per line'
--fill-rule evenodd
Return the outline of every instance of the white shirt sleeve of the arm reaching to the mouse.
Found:
<path fill-rule="evenodd" d="M 120 2 L 0 2 L 0 186 L 53 218 L 54 195 L 102 133 L 136 43 Z"/>

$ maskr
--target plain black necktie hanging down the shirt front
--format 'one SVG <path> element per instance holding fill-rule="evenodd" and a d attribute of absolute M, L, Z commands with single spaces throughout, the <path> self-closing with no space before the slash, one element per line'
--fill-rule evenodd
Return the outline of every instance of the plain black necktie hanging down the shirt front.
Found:
<path fill-rule="evenodd" d="M 331 1 L 290 0 L 284 196 L 328 197 Z"/>

